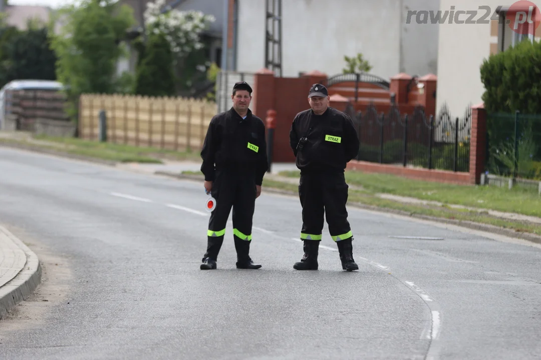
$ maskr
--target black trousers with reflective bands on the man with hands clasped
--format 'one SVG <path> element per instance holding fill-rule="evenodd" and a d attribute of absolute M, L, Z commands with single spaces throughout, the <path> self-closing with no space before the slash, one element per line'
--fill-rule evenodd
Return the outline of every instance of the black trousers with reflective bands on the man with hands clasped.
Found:
<path fill-rule="evenodd" d="M 343 172 L 301 172 L 302 240 L 321 240 L 324 215 L 334 241 L 353 237 L 347 220 L 348 188 Z"/>

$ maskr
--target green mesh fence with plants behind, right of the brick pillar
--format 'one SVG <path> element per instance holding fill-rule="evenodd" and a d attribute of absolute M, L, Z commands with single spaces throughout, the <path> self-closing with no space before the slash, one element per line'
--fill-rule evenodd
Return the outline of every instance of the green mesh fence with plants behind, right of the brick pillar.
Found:
<path fill-rule="evenodd" d="M 541 114 L 487 114 L 486 170 L 541 180 Z"/>

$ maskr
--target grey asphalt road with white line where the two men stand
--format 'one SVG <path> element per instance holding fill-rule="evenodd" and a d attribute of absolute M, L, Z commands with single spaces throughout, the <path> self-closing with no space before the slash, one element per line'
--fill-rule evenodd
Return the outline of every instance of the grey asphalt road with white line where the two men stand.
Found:
<path fill-rule="evenodd" d="M 219 269 L 202 271 L 206 198 L 197 182 L 0 147 L 0 222 L 44 264 L 0 322 L 0 358 L 541 357 L 539 246 L 349 208 L 359 271 L 341 270 L 326 227 L 320 270 L 295 271 L 299 201 L 263 193 L 263 267 L 235 269 L 229 223 Z"/>

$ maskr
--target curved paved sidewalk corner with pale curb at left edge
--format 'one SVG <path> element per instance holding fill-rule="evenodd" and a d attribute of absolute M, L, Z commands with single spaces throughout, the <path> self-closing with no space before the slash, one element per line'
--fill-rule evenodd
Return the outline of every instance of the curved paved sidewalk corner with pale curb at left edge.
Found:
<path fill-rule="evenodd" d="M 36 254 L 0 226 L 0 316 L 27 300 L 40 282 L 41 266 Z"/>

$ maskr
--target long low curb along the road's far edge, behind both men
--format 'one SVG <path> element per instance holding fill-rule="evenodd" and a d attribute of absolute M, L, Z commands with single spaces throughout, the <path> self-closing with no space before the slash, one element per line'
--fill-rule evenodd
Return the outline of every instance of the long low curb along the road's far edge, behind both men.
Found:
<path fill-rule="evenodd" d="M 166 171 L 156 171 L 156 175 L 164 175 L 169 176 L 171 178 L 177 178 L 177 179 L 188 179 L 188 180 L 199 180 L 203 181 L 204 176 L 202 175 L 188 175 L 188 174 L 176 174 L 176 173 L 170 173 Z M 273 189 L 269 187 L 263 188 L 263 191 L 265 193 L 274 193 L 274 194 L 282 194 L 282 195 L 297 195 L 295 192 L 287 191 L 287 190 L 281 190 L 281 189 Z M 378 206 L 372 206 L 372 205 L 365 205 L 363 203 L 359 202 L 348 202 L 349 206 L 354 206 L 359 209 L 364 210 L 370 210 L 373 212 L 378 212 L 382 214 L 394 214 L 394 215 L 401 215 L 406 216 L 407 218 L 414 218 L 414 219 L 420 219 L 420 220 L 428 220 L 438 223 L 445 223 L 448 225 L 454 225 L 454 226 L 460 226 L 472 230 L 479 230 L 487 233 L 497 234 L 497 235 L 504 235 L 509 237 L 516 237 L 518 239 L 531 241 L 534 243 L 541 244 L 541 236 L 530 234 L 530 233 L 521 233 L 517 232 L 516 230 L 512 229 L 506 229 L 506 228 L 500 228 L 493 225 L 483 224 L 479 222 L 473 222 L 473 221 L 464 221 L 464 220 L 454 220 L 454 219 L 444 219 L 444 218 L 436 218 L 434 216 L 428 216 L 428 215 L 421 215 L 421 214 L 415 214 L 410 213 L 404 210 L 396 210 L 396 209 L 387 209 L 387 208 L 381 208 Z"/>

